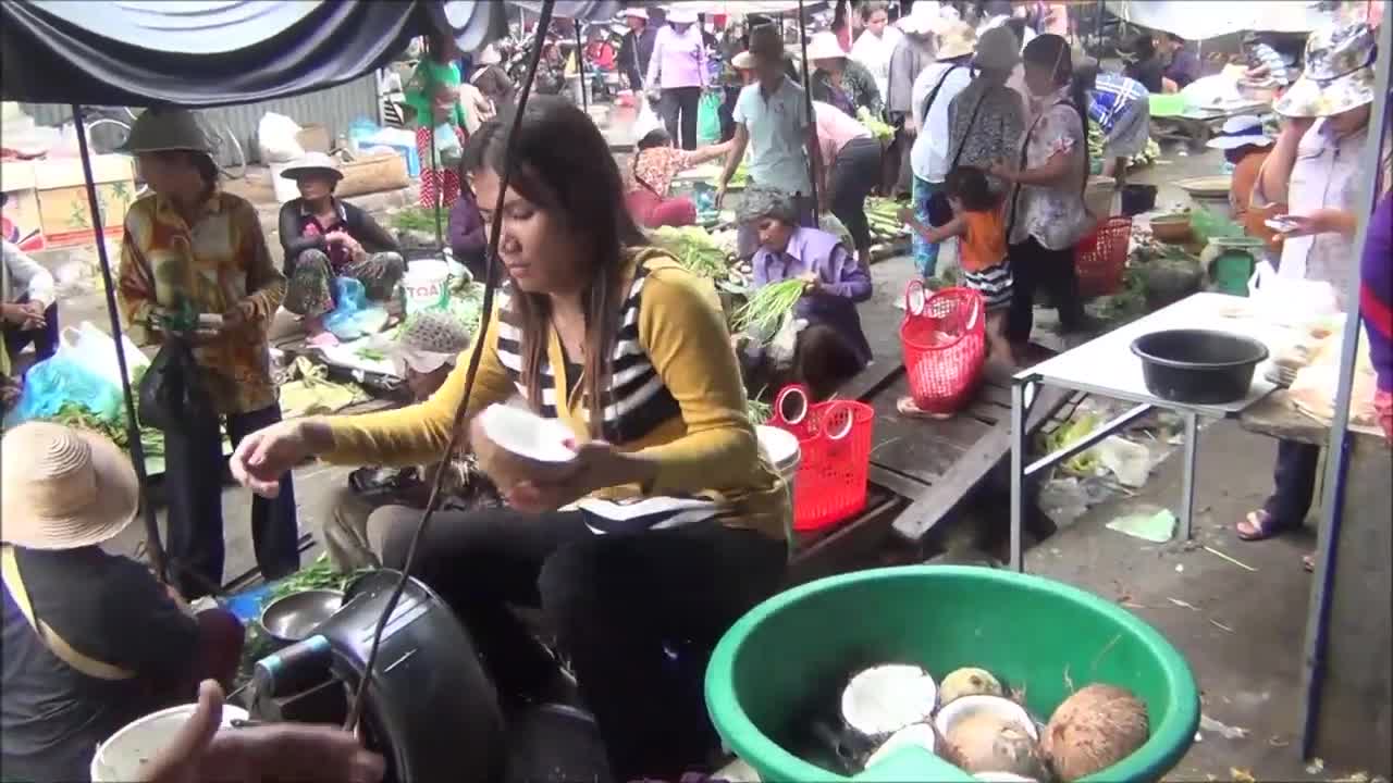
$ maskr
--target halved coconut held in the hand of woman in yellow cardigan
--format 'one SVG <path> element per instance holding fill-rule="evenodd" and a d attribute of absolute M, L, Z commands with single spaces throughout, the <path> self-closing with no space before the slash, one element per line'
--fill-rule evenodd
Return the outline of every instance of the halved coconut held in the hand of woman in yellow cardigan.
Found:
<path fill-rule="evenodd" d="M 567 446 L 571 439 L 560 421 L 513 405 L 489 405 L 469 425 L 479 467 L 503 492 L 524 479 L 545 481 L 563 472 L 575 460 Z"/>

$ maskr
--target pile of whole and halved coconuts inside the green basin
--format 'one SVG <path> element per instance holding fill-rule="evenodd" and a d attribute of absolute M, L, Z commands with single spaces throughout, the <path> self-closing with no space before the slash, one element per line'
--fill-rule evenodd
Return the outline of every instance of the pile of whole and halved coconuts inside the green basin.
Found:
<path fill-rule="evenodd" d="M 1096 775 L 1151 734 L 1146 706 L 1126 688 L 1087 685 L 1048 723 L 1034 718 L 1018 694 L 985 669 L 957 669 L 935 683 L 922 666 L 885 663 L 851 677 L 837 715 L 819 720 L 814 734 L 832 745 L 848 776 L 893 750 L 917 745 L 983 780 L 1039 783 Z"/>

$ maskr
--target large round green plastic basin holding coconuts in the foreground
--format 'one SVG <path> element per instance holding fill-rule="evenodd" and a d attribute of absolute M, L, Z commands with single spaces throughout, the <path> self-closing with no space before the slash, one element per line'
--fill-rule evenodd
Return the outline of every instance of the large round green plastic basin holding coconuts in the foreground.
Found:
<path fill-rule="evenodd" d="M 1151 626 L 1068 585 L 993 568 L 910 566 L 830 577 L 770 598 L 722 638 L 706 706 L 730 750 L 766 782 L 848 780 L 780 747 L 809 699 L 866 660 L 914 662 L 942 680 L 981 666 L 1025 692 L 1048 720 L 1073 688 L 1121 685 L 1145 704 L 1151 738 L 1088 780 L 1159 780 L 1190 748 L 1199 692 L 1181 655 Z M 972 777 L 917 747 L 854 780 Z"/>

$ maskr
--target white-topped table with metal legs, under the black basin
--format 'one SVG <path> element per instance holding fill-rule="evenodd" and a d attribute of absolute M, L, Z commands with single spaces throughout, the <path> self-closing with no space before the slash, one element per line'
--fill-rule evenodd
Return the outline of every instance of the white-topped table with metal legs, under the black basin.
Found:
<path fill-rule="evenodd" d="M 1229 294 L 1201 293 L 1158 309 L 1107 334 L 1024 369 L 1011 380 L 1011 567 L 1024 571 L 1021 528 L 1025 520 L 1025 479 L 1045 468 L 1067 460 L 1095 446 L 1109 435 L 1123 429 L 1153 408 L 1176 411 L 1185 422 L 1185 464 L 1181 483 L 1180 527 L 1185 538 L 1191 534 L 1191 514 L 1195 502 L 1195 449 L 1199 417 L 1237 417 L 1276 389 L 1263 378 L 1268 362 L 1258 365 L 1252 386 L 1241 400 L 1219 405 L 1192 405 L 1156 397 L 1146 390 L 1141 359 L 1133 354 L 1133 340 L 1163 329 L 1213 329 L 1245 334 L 1265 346 L 1275 355 L 1289 344 L 1295 333 L 1290 326 L 1265 320 L 1254 315 L 1251 300 Z M 1027 397 L 1034 397 L 1035 386 L 1057 386 L 1074 392 L 1126 400 L 1135 405 L 1127 412 L 1102 424 L 1087 436 L 1070 443 L 1031 464 L 1025 464 L 1027 443 L 1024 422 L 1029 415 Z"/>

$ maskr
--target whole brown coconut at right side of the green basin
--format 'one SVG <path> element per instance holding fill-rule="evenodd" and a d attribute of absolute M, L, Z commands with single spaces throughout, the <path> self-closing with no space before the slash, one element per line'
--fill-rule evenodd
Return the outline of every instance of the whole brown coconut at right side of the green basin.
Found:
<path fill-rule="evenodd" d="M 1146 743 L 1146 705 L 1127 688 L 1092 684 L 1055 709 L 1041 750 L 1060 780 L 1068 783 L 1107 769 Z"/>

